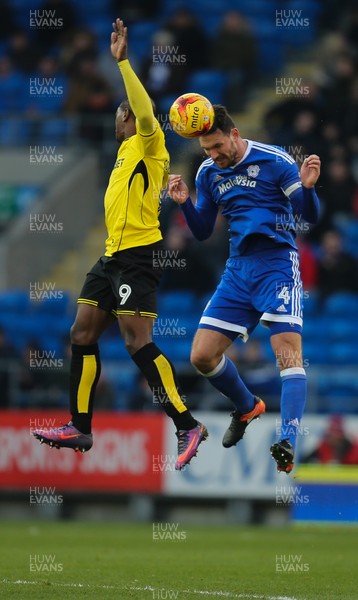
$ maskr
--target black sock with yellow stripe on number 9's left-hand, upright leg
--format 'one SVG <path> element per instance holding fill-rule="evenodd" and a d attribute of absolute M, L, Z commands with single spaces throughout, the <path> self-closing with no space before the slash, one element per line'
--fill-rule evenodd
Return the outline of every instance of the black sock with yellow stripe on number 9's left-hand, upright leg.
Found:
<path fill-rule="evenodd" d="M 72 423 L 82 433 L 91 433 L 93 400 L 101 374 L 98 344 L 72 344 L 70 410 Z"/>

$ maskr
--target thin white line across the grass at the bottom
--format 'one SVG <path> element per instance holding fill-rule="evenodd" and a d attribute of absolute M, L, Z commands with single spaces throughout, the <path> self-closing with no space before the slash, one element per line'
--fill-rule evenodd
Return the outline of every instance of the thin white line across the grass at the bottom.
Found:
<path fill-rule="evenodd" d="M 12 585 L 45 585 L 42 581 L 24 581 L 17 579 L 17 581 L 9 581 L 3 579 L 1 583 L 7 583 Z M 165 590 L 166 592 L 178 591 L 180 594 L 197 594 L 198 596 L 209 596 L 212 598 L 236 598 L 237 600 L 298 600 L 292 596 L 265 596 L 262 594 L 235 594 L 234 592 L 210 592 L 209 590 L 168 590 L 166 588 L 155 588 L 151 585 L 145 587 L 138 587 L 134 585 L 89 585 L 88 583 L 51 583 L 54 587 L 74 587 L 74 588 L 87 588 L 87 589 L 99 589 L 99 590 L 127 590 L 131 592 L 160 592 Z M 303 600 L 303 599 L 302 599 Z"/>

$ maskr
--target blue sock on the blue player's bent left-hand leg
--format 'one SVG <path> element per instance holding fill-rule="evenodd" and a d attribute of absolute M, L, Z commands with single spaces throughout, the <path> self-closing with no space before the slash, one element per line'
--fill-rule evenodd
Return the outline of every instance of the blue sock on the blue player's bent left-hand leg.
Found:
<path fill-rule="evenodd" d="M 218 366 L 211 373 L 202 373 L 224 396 L 230 398 L 236 410 L 242 414 L 250 412 L 255 406 L 255 397 L 242 381 L 234 363 L 223 356 Z"/>

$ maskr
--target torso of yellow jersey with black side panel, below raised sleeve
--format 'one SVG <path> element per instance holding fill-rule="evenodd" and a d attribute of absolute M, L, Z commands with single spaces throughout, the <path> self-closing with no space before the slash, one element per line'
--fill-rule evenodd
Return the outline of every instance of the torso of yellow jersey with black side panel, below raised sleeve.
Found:
<path fill-rule="evenodd" d="M 138 132 L 121 144 L 104 198 L 106 256 L 153 244 L 159 229 L 160 193 L 169 174 L 169 154 L 156 121 L 150 135 Z"/>

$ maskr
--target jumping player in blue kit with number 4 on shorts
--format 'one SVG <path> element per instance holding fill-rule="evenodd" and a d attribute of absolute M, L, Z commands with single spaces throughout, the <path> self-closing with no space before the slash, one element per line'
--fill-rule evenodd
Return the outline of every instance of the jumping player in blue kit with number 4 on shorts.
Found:
<path fill-rule="evenodd" d="M 246 342 L 259 322 L 269 328 L 282 381 L 281 435 L 271 454 L 278 471 L 290 473 L 307 393 L 295 231 L 297 223 L 318 220 L 314 185 L 320 159 L 308 156 L 299 171 L 282 148 L 243 139 L 226 108 L 214 109 L 212 128 L 199 137 L 208 158 L 197 172 L 196 204 L 181 175 L 169 178 L 169 194 L 198 240 L 211 235 L 219 210 L 230 232 L 230 256 L 200 319 L 191 362 L 235 406 L 223 437 L 229 448 L 265 412 L 265 404 L 246 387 L 225 351 L 237 337 Z"/>

